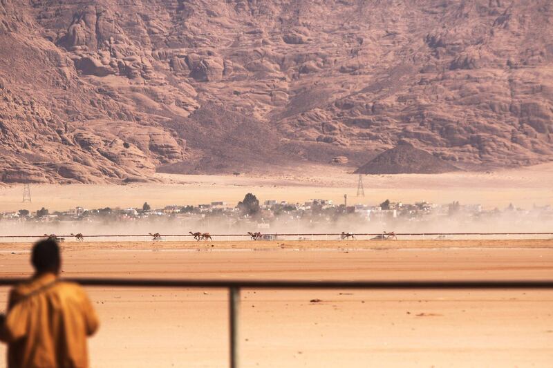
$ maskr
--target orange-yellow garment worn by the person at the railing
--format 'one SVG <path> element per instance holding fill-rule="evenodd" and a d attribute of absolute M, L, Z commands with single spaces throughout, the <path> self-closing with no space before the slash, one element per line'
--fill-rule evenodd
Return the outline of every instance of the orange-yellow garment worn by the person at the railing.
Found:
<path fill-rule="evenodd" d="M 0 340 L 9 368 L 86 368 L 86 336 L 98 328 L 88 296 L 77 284 L 44 273 L 10 291 Z"/>

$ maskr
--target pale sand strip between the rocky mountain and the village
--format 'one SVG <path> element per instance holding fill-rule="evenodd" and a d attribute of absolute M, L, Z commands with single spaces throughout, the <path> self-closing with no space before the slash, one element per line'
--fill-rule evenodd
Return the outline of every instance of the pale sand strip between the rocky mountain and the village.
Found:
<path fill-rule="evenodd" d="M 171 204 L 205 204 L 224 201 L 236 205 L 246 193 L 259 200 L 305 202 L 312 198 L 343 203 L 379 204 L 389 199 L 413 203 L 428 201 L 447 204 L 482 204 L 485 209 L 513 203 L 529 209 L 533 204 L 553 203 L 553 164 L 541 164 L 492 173 L 443 173 L 435 175 L 366 175 L 364 197 L 356 197 L 358 175 L 339 167 L 310 166 L 290 169 L 288 175 L 170 175 L 157 174 L 157 184 L 31 184 L 32 203 L 21 203 L 22 185 L 0 186 L 0 211 L 25 208 L 36 211 L 64 211 L 75 206 L 88 209 Z"/>

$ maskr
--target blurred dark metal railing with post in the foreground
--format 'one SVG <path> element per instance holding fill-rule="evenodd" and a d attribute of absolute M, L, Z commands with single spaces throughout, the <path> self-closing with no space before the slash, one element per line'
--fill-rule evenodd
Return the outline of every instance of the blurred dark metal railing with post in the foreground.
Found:
<path fill-rule="evenodd" d="M 21 278 L 0 279 L 0 286 L 24 282 Z M 62 279 L 91 287 L 169 287 L 228 289 L 229 367 L 238 368 L 238 314 L 241 289 L 553 289 L 553 280 L 451 280 L 451 281 L 294 281 L 294 280 L 152 280 L 124 278 Z"/>

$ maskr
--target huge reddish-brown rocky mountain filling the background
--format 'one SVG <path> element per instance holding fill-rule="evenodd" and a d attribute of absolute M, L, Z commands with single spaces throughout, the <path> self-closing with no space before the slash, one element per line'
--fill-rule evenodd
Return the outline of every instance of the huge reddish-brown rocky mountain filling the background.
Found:
<path fill-rule="evenodd" d="M 0 0 L 0 181 L 550 161 L 552 66 L 550 0 Z"/>

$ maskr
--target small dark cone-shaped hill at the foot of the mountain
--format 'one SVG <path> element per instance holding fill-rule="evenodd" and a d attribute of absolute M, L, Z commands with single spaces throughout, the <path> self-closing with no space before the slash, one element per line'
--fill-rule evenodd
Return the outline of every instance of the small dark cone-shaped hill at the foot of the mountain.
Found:
<path fill-rule="evenodd" d="M 358 168 L 356 174 L 438 174 L 459 168 L 426 151 L 400 142 Z"/>

